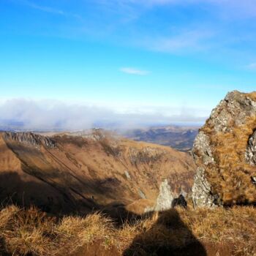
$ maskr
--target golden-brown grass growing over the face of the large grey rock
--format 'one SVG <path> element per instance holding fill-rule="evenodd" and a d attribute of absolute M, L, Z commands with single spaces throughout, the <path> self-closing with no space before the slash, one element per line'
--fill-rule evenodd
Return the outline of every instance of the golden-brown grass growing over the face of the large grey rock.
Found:
<path fill-rule="evenodd" d="M 255 185 L 251 176 L 255 176 L 256 168 L 246 162 L 245 151 L 248 138 L 256 129 L 256 117 L 248 117 L 246 124 L 234 127 L 230 132 L 214 132 L 207 125 L 201 129 L 209 135 L 211 148 L 217 165 L 208 165 L 206 175 L 214 193 L 219 195 L 225 205 L 254 203 Z"/>

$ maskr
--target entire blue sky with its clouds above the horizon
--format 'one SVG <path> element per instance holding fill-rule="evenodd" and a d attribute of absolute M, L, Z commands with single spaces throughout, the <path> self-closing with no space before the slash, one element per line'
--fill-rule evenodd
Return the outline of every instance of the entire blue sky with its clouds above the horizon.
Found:
<path fill-rule="evenodd" d="M 201 124 L 255 78 L 255 0 L 0 0 L 2 123 Z"/>

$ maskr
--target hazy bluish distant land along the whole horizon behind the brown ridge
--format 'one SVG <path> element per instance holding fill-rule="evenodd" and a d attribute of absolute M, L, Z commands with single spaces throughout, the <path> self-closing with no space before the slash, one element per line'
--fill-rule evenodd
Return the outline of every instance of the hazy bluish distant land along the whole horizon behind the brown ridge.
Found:
<path fill-rule="evenodd" d="M 169 126 L 146 126 L 143 128 L 136 129 L 123 129 L 119 128 L 120 125 L 116 123 L 105 124 L 97 123 L 94 124 L 96 129 L 108 131 L 111 135 L 121 135 L 124 138 L 128 138 L 136 141 L 144 141 L 148 143 L 159 144 L 162 146 L 170 146 L 176 148 L 178 151 L 190 151 L 193 146 L 193 142 L 198 133 L 200 127 L 196 126 L 178 126 L 178 125 L 169 125 Z M 48 129 L 37 129 L 33 127 L 26 127 L 23 122 L 15 120 L 6 120 L 0 119 L 0 132 L 1 131 L 13 131 L 13 132 L 35 132 L 42 134 L 57 134 L 60 132 L 69 131 L 72 135 L 83 135 L 89 134 L 91 129 L 81 129 L 77 132 L 70 129 L 64 129 L 63 127 L 55 127 Z"/>

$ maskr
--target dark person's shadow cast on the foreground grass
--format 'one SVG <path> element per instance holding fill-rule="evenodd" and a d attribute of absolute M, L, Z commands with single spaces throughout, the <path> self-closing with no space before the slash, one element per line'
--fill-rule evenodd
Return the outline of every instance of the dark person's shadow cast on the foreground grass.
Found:
<path fill-rule="evenodd" d="M 184 224 L 175 208 L 159 212 L 154 225 L 143 229 L 123 256 L 206 256 L 203 244 Z"/>

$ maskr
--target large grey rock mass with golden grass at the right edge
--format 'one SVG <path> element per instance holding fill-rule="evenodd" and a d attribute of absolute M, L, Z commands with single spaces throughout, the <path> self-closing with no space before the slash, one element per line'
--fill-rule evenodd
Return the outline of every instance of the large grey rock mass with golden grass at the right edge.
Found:
<path fill-rule="evenodd" d="M 195 206 L 256 203 L 255 130 L 256 92 L 232 91 L 212 110 L 192 150 Z"/>

